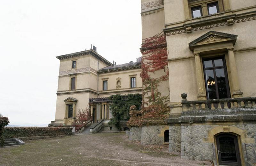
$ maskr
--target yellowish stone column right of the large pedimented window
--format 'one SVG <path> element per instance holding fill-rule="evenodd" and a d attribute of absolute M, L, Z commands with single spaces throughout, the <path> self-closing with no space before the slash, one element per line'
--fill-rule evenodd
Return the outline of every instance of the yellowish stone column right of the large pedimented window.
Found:
<path fill-rule="evenodd" d="M 232 88 L 233 88 L 233 96 L 232 97 L 234 97 L 234 98 L 243 97 L 243 92 L 241 92 L 241 90 L 240 90 L 239 79 L 238 79 L 238 75 L 237 75 L 234 47 L 228 48 L 227 50 L 228 50 L 229 68 L 230 68 Z"/>

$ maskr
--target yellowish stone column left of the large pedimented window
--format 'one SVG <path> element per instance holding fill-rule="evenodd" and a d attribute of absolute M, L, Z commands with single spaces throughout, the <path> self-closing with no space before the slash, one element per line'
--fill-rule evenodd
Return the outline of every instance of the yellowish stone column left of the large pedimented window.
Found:
<path fill-rule="evenodd" d="M 198 100 L 206 100 L 205 88 L 204 88 L 204 77 L 202 74 L 202 67 L 200 61 L 200 55 L 195 54 L 196 64 L 196 83 L 197 83 L 197 98 Z"/>

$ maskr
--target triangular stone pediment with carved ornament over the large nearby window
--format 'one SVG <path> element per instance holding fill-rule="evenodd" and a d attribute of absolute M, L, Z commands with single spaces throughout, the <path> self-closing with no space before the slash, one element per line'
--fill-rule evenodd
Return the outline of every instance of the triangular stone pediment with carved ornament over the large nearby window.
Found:
<path fill-rule="evenodd" d="M 200 36 L 196 40 L 193 40 L 188 45 L 189 45 L 189 49 L 193 51 L 195 47 L 199 47 L 203 45 L 217 44 L 217 43 L 228 42 L 228 41 L 235 44 L 236 38 L 237 38 L 237 35 L 210 31 Z"/>

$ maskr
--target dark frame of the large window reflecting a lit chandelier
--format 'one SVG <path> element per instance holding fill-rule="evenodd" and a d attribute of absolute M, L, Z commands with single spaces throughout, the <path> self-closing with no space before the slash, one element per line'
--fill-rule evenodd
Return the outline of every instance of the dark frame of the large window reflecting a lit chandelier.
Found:
<path fill-rule="evenodd" d="M 220 59 L 220 58 L 222 58 L 223 65 L 215 67 L 214 60 L 217 60 L 217 59 Z M 219 99 L 218 83 L 217 83 L 216 72 L 215 72 L 216 69 L 224 69 L 225 81 L 226 81 L 226 85 L 227 85 L 227 87 L 226 87 L 227 88 L 227 95 L 228 95 L 228 98 L 231 98 L 225 55 L 220 55 L 220 56 L 213 57 L 213 58 L 203 58 L 202 60 L 203 60 L 204 83 L 205 83 L 205 91 L 206 91 L 207 99 L 209 100 L 210 97 L 209 97 L 209 94 L 207 93 L 207 78 L 205 76 L 205 70 L 211 70 L 211 69 L 213 70 L 214 80 L 216 82 L 216 84 L 215 84 L 216 99 Z M 212 60 L 212 67 L 206 68 L 204 66 L 204 61 L 209 61 L 209 60 Z"/>

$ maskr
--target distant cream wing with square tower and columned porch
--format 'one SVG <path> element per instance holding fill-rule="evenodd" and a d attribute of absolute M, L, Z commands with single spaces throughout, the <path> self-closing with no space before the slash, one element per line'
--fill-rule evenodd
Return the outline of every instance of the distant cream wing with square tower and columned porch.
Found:
<path fill-rule="evenodd" d="M 112 118 L 108 97 L 113 94 L 142 92 L 141 64 L 136 62 L 116 65 L 99 55 L 95 49 L 57 56 L 60 60 L 54 126 L 72 126 L 78 109 L 88 108 L 93 122 L 105 126 Z M 123 125 L 126 126 L 126 125 Z M 110 130 L 111 129 L 111 130 Z M 114 132 L 113 126 L 106 132 Z"/>

